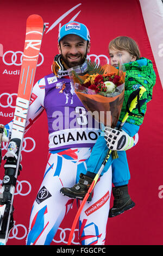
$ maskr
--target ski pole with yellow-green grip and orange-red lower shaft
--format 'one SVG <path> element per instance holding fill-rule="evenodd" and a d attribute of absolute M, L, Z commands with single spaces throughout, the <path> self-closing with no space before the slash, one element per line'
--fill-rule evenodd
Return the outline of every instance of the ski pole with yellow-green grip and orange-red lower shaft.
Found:
<path fill-rule="evenodd" d="M 130 112 L 132 112 L 133 109 L 136 108 L 138 97 L 140 98 L 140 97 L 143 95 L 143 93 L 146 92 L 146 88 L 143 87 L 143 86 L 141 86 L 138 90 L 139 90 L 139 96 L 136 95 L 136 97 L 135 97 L 135 98 L 131 101 L 131 103 L 130 103 L 130 107 L 129 107 L 129 111 L 130 111 Z M 128 119 L 128 117 L 129 117 L 129 113 L 127 112 L 126 115 L 124 115 L 124 118 L 123 118 L 123 120 L 122 120 L 120 126 L 118 126 L 118 130 L 121 130 L 122 126 L 124 125 L 124 123 L 126 122 L 126 120 Z M 80 214 L 81 214 L 81 212 L 82 212 L 82 210 L 83 210 L 83 207 L 84 207 L 84 205 L 85 205 L 85 203 L 86 203 L 87 198 L 89 198 L 89 196 L 90 196 L 90 194 L 91 194 L 93 188 L 95 187 L 95 185 L 96 185 L 96 183 L 97 183 L 97 181 L 98 181 L 98 178 L 99 178 L 99 176 L 101 175 L 101 173 L 102 173 L 102 171 L 103 171 L 103 169 L 104 169 L 104 167 L 105 167 L 105 164 L 108 162 L 108 159 L 109 159 L 109 157 L 110 157 L 111 152 L 112 152 L 112 150 L 109 149 L 109 150 L 108 150 L 108 153 L 106 154 L 106 157 L 105 157 L 105 159 L 104 159 L 104 161 L 103 161 L 103 163 L 102 163 L 102 166 L 99 168 L 98 173 L 96 174 L 95 178 L 93 179 L 92 184 L 91 184 L 91 186 L 89 187 L 89 190 L 87 191 L 87 193 L 86 193 L 86 195 L 85 195 L 85 197 L 84 197 L 82 203 L 80 204 L 80 207 L 79 207 L 79 209 L 78 209 L 78 211 L 77 211 L 76 217 L 74 218 L 74 221 L 73 221 L 73 224 L 72 224 L 72 227 L 71 227 L 71 231 L 70 231 L 70 235 L 69 235 L 69 237 L 68 237 L 68 243 L 67 243 L 67 245 L 71 245 L 72 236 L 73 236 L 73 233 L 74 233 L 74 229 L 76 228 L 76 225 L 77 225 L 79 216 L 80 216 Z"/>

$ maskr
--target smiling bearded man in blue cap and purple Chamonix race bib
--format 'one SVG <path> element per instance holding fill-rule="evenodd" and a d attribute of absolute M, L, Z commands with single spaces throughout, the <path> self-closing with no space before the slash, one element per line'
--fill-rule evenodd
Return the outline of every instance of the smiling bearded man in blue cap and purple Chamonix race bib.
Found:
<path fill-rule="evenodd" d="M 73 92 L 67 71 L 77 65 L 86 69 L 85 58 L 90 52 L 90 35 L 86 26 L 75 21 L 62 26 L 58 50 L 52 74 L 41 78 L 33 88 L 27 118 L 26 131 L 45 109 L 49 132 L 48 163 L 33 204 L 27 245 L 51 244 L 73 203 L 73 199 L 60 194 L 63 186 L 71 187 L 79 179 L 84 184 L 91 184 L 92 179 L 86 179 L 84 174 L 100 132 L 99 124 L 87 123 L 90 117 L 86 118 L 86 109 Z M 6 126 L 8 133 L 11 124 Z M 80 174 L 81 170 L 83 174 Z M 80 215 L 81 245 L 104 245 L 110 194 L 111 171 L 98 181 L 91 204 L 87 202 Z"/>

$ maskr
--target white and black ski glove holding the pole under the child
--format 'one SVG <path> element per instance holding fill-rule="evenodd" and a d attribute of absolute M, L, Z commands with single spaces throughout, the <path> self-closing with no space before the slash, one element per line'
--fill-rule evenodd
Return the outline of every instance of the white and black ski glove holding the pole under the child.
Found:
<path fill-rule="evenodd" d="M 106 145 L 111 150 L 127 150 L 135 145 L 133 137 L 122 130 L 105 127 L 104 133 Z"/>

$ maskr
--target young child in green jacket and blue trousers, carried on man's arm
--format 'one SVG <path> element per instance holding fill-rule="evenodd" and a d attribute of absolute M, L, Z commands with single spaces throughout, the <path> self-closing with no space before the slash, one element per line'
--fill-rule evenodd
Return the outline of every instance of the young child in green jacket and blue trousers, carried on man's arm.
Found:
<path fill-rule="evenodd" d="M 109 211 L 109 217 L 122 214 L 124 211 L 134 207 L 135 203 L 128 194 L 128 182 L 130 172 L 127 162 L 126 150 L 133 147 L 133 136 L 139 131 L 140 125 L 143 123 L 143 115 L 146 113 L 147 102 L 152 100 L 152 91 L 155 84 L 156 76 L 153 70 L 151 60 L 140 58 L 140 50 L 136 42 L 128 36 L 118 36 L 109 43 L 110 64 L 118 67 L 118 61 L 121 61 L 126 68 L 124 101 L 117 127 L 120 125 L 124 115 L 127 112 L 127 102 L 131 93 L 137 88 L 143 86 L 146 92 L 140 99 L 140 109 L 135 108 L 129 115 L 126 123 L 121 131 L 105 127 L 104 132 L 98 137 L 96 144 L 92 148 L 91 156 L 87 162 L 86 175 L 80 174 L 79 182 L 71 188 L 62 187 L 60 192 L 71 198 L 79 198 L 83 200 L 87 190 L 89 189 L 93 178 L 95 178 L 102 162 L 105 159 L 108 148 L 118 151 L 118 158 L 113 160 L 111 155 L 106 163 L 103 172 L 105 173 L 110 165 L 112 167 L 112 188 L 114 196 L 114 205 Z M 122 138 L 124 143 L 122 143 Z M 87 201 L 91 201 L 90 194 Z"/>

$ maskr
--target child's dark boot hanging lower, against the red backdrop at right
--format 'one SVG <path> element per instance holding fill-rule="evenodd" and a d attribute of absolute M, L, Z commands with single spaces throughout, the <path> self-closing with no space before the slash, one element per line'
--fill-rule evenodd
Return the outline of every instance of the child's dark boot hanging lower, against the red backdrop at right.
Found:
<path fill-rule="evenodd" d="M 135 206 L 128 194 L 128 186 L 113 187 L 112 194 L 114 196 L 114 203 L 109 211 L 109 218 L 123 214 Z"/>

